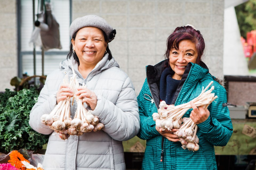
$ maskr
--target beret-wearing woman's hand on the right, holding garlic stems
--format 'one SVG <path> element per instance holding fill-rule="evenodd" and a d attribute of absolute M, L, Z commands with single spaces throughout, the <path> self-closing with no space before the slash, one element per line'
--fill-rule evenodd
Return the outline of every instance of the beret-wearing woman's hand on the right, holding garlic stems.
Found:
<path fill-rule="evenodd" d="M 97 96 L 94 92 L 88 90 L 87 88 L 79 87 L 76 93 L 79 99 L 82 99 L 83 103 L 86 103 L 92 110 L 96 108 Z"/>

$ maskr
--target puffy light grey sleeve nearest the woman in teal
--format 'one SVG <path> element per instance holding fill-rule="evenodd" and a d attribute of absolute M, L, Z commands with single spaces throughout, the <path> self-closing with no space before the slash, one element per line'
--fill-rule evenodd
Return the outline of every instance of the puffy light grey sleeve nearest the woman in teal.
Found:
<path fill-rule="evenodd" d="M 93 115 L 105 125 L 104 131 L 117 141 L 127 141 L 139 132 L 139 113 L 136 94 L 129 77 L 123 83 L 116 103 L 97 95 Z"/>

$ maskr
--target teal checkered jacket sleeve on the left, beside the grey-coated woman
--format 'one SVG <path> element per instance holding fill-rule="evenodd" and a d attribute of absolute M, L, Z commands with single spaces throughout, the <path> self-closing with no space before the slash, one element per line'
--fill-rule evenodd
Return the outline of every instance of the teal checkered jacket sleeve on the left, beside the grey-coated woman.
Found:
<path fill-rule="evenodd" d="M 141 120 L 140 131 L 137 136 L 143 140 L 150 139 L 157 135 L 160 135 L 158 131 L 155 129 L 155 121 L 152 118 L 152 114 L 154 112 L 150 112 L 150 107 L 155 107 L 156 112 L 157 108 L 155 106 L 155 103 L 145 100 L 145 94 L 150 94 L 147 79 L 145 80 L 142 90 L 137 97 L 139 105 L 139 118 Z"/>

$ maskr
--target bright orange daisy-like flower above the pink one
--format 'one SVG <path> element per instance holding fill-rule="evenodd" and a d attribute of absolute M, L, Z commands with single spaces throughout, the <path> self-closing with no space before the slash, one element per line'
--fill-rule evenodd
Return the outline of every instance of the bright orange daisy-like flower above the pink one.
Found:
<path fill-rule="evenodd" d="M 8 162 L 11 163 L 11 165 L 15 166 L 16 168 L 26 170 L 26 167 L 22 167 L 23 164 L 21 163 L 21 161 L 26 161 L 26 162 L 30 163 L 17 150 L 11 151 L 9 156 L 10 156 L 10 160 L 8 160 Z"/>

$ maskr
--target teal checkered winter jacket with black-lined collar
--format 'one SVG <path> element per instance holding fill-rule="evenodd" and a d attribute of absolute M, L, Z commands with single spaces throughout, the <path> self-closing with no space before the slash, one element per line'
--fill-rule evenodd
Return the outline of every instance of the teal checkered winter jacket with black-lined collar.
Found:
<path fill-rule="evenodd" d="M 180 142 L 171 142 L 155 129 L 152 114 L 157 112 L 160 103 L 159 83 L 162 71 L 167 66 L 167 60 L 155 66 L 146 66 L 146 80 L 137 97 L 140 114 L 140 131 L 138 137 L 146 140 L 146 150 L 143 158 L 143 170 L 212 170 L 217 169 L 214 146 L 225 146 L 229 141 L 233 126 L 226 106 L 226 90 L 213 77 L 207 66 L 189 63 L 174 94 L 172 104 L 187 103 L 202 92 L 213 81 L 212 93 L 218 96 L 208 107 L 210 116 L 198 124 L 197 135 L 199 150 L 189 151 L 181 147 Z M 188 110 L 183 117 L 189 117 Z M 161 162 L 161 156 L 163 161 Z"/>

